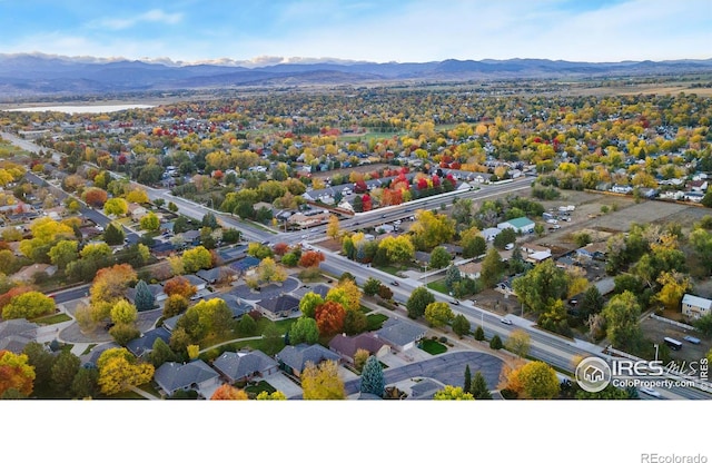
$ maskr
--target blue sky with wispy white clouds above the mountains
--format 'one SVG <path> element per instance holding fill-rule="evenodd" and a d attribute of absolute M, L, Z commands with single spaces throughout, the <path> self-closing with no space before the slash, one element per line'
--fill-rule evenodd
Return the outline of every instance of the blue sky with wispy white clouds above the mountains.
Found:
<path fill-rule="evenodd" d="M 712 58 L 712 0 L 0 0 L 0 53 L 264 66 Z"/>

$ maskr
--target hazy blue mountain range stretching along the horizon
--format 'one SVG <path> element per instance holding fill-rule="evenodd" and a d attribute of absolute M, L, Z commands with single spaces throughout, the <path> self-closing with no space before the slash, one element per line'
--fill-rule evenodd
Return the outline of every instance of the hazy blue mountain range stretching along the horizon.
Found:
<path fill-rule="evenodd" d="M 405 63 L 324 61 L 245 67 L 0 53 L 0 98 L 304 85 L 358 86 L 398 81 L 679 76 L 709 71 L 712 71 L 712 59 L 621 62 L 449 59 Z"/>

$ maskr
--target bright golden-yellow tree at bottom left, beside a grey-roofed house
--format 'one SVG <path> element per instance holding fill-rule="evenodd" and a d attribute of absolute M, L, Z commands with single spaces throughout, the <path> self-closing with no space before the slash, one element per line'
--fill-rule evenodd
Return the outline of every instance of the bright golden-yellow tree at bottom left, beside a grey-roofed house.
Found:
<path fill-rule="evenodd" d="M 123 347 L 106 349 L 97 361 L 98 384 L 107 395 L 128 391 L 132 386 L 146 384 L 154 377 L 154 365 L 139 363 L 134 354 Z"/>

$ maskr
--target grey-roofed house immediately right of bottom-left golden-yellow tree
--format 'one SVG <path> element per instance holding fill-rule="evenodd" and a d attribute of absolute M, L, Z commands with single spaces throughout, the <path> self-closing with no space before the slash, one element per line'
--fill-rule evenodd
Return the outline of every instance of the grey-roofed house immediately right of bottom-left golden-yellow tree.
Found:
<path fill-rule="evenodd" d="M 220 385 L 218 373 L 201 359 L 181 364 L 168 362 L 156 370 L 154 381 L 165 395 L 178 391 L 196 391 L 204 398 L 210 398 Z"/>

